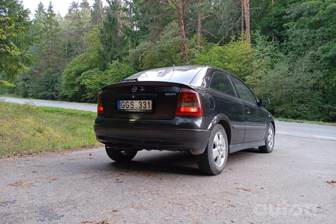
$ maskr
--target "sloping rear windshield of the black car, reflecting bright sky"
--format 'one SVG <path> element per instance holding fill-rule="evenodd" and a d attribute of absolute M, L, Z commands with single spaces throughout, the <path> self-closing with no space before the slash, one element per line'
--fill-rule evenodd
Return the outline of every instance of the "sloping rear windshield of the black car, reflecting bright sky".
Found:
<path fill-rule="evenodd" d="M 202 67 L 168 67 L 138 72 L 129 79 L 190 84 Z"/>

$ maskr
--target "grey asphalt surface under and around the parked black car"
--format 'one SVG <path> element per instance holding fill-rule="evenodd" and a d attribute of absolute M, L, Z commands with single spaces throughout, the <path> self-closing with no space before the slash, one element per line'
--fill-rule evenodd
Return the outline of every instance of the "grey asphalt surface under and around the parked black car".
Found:
<path fill-rule="evenodd" d="M 230 154 L 218 176 L 179 152 L 141 151 L 130 163 L 103 148 L 0 159 L 0 223 L 336 223 L 336 127 L 276 131 L 271 154 Z"/>

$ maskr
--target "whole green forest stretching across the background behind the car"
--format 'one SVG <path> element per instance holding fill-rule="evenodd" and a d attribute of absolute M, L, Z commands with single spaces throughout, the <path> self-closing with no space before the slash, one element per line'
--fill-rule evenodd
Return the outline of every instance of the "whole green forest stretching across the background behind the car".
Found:
<path fill-rule="evenodd" d="M 336 122 L 336 0 L 0 0 L 0 94 L 96 102 L 150 68 L 213 65 L 275 117 Z"/>

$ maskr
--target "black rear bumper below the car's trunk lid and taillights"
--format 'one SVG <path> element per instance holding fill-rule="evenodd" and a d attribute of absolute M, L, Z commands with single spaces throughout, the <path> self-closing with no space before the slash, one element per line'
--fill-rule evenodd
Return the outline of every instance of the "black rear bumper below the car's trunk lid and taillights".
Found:
<path fill-rule="evenodd" d="M 123 127 L 95 124 L 96 138 L 101 143 L 136 145 L 140 149 L 188 151 L 202 154 L 211 130 L 179 128 Z"/>

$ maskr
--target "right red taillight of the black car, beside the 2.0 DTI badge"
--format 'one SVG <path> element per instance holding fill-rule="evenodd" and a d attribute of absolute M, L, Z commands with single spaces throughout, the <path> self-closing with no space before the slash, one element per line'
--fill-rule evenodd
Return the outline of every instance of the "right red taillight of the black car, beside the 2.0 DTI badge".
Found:
<path fill-rule="evenodd" d="M 175 107 L 175 116 L 204 116 L 202 101 L 196 91 L 185 88 L 180 89 Z"/>

